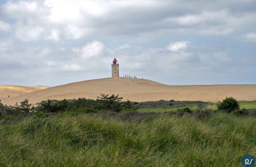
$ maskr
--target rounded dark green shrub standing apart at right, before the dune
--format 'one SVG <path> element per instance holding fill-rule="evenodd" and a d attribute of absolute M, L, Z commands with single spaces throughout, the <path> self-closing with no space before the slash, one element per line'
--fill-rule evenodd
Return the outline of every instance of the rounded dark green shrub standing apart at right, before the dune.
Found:
<path fill-rule="evenodd" d="M 228 113 L 231 113 L 232 111 L 236 110 L 236 109 L 239 109 L 240 106 L 237 102 L 236 99 L 230 97 L 230 98 L 226 98 L 223 100 L 223 102 L 221 102 L 219 105 L 218 105 L 218 110 L 224 110 Z"/>

